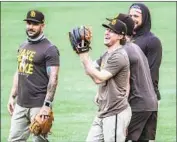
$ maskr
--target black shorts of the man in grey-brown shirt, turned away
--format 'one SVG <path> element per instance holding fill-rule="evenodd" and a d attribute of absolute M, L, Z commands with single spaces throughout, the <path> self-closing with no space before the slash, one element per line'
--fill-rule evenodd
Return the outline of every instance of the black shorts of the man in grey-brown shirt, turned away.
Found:
<path fill-rule="evenodd" d="M 132 112 L 127 140 L 155 140 L 157 111 Z"/>

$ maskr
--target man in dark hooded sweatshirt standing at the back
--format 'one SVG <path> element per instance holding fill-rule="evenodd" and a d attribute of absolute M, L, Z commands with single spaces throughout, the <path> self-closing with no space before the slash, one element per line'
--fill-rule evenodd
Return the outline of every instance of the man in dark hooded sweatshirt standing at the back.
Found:
<path fill-rule="evenodd" d="M 129 15 L 132 17 L 135 26 L 133 41 L 146 55 L 151 72 L 151 78 L 157 99 L 161 99 L 159 92 L 159 68 L 162 59 L 161 41 L 151 30 L 151 15 L 148 7 L 143 3 L 134 3 L 129 8 Z"/>

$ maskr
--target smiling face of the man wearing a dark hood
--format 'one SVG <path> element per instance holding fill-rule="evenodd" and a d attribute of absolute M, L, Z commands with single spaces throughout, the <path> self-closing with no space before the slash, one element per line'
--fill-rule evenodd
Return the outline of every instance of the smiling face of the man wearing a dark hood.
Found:
<path fill-rule="evenodd" d="M 129 15 L 135 23 L 134 29 L 142 25 L 142 11 L 140 9 L 131 8 Z"/>

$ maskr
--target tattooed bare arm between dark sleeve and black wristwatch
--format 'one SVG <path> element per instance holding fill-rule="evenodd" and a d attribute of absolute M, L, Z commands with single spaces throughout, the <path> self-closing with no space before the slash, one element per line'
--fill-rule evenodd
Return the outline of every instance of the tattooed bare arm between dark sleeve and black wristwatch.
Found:
<path fill-rule="evenodd" d="M 47 95 L 45 102 L 52 102 L 54 99 L 55 91 L 58 84 L 58 66 L 49 66 L 47 67 L 47 74 L 49 76 L 49 83 L 47 86 Z"/>

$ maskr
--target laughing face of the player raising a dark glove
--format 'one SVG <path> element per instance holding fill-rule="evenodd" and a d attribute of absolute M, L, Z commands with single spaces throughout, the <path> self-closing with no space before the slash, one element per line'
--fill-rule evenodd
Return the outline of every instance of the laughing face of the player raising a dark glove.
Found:
<path fill-rule="evenodd" d="M 117 41 L 122 39 L 122 35 L 116 34 L 113 30 L 107 28 L 104 34 L 104 45 L 107 47 L 113 46 Z"/>

